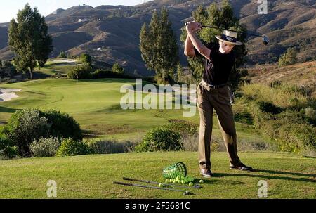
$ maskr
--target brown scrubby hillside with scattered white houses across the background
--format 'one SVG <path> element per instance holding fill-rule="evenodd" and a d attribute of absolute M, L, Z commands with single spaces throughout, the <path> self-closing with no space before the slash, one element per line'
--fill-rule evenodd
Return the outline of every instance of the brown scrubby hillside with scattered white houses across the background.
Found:
<path fill-rule="evenodd" d="M 146 72 L 138 44 L 140 27 L 144 22 L 150 22 L 152 11 L 162 6 L 169 9 L 169 18 L 179 39 L 183 20 L 189 18 L 200 4 L 209 6 L 212 2 L 155 0 L 138 6 L 74 6 L 67 10 L 58 9 L 46 17 L 55 46 L 51 56 L 58 56 L 60 51 L 67 51 L 72 56 L 87 52 L 106 63 L 119 62 L 128 72 L 138 70 L 143 75 L 150 75 L 152 72 Z M 290 46 L 296 47 L 301 61 L 310 60 L 316 55 L 315 1 L 268 1 L 266 15 L 258 15 L 256 1 L 230 2 L 240 22 L 250 32 L 270 37 L 268 46 L 263 46 L 260 38 L 249 37 L 246 44 L 249 65 L 276 62 L 279 55 Z M 4 36 L 8 25 L 0 26 L 3 26 L 0 27 L 0 59 L 10 60 L 13 54 L 6 47 L 7 37 Z M 185 65 L 186 59 L 182 52 L 181 47 L 180 59 Z"/>

